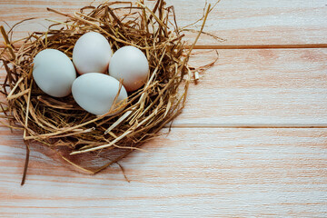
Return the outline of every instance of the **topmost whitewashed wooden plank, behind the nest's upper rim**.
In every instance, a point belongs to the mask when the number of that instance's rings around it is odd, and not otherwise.
[[[55,19],[57,15],[47,13],[50,6],[64,13],[73,13],[84,5],[97,5],[102,1],[44,1],[4,0],[0,2],[0,21],[9,25],[29,17],[40,17],[15,29],[15,38],[27,35],[27,31],[45,30],[49,23],[45,17]],[[214,4],[215,0],[208,1]],[[145,1],[153,5],[154,1]],[[174,5],[180,26],[189,25],[202,16],[205,1],[167,1]],[[185,10],[187,8],[187,10]],[[4,25],[3,22],[1,22]],[[194,29],[199,29],[195,25]],[[302,45],[326,44],[327,11],[325,1],[221,1],[208,19],[205,31],[226,39],[220,43],[211,36],[203,35],[199,45]],[[192,40],[195,33],[186,33]]]

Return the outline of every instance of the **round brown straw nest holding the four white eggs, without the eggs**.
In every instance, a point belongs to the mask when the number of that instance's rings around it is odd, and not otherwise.
[[[211,11],[204,11],[203,25]],[[153,138],[163,126],[181,114],[192,69],[188,60],[193,45],[186,46],[175,20],[173,6],[158,0],[153,9],[143,3],[104,3],[85,6],[74,15],[47,8],[66,17],[53,21],[45,32],[35,32],[15,46],[4,28],[5,49],[1,61],[5,66],[2,93],[6,102],[2,112],[10,128],[22,129],[27,148],[38,142],[52,148],[65,162],[85,173],[98,173]],[[95,116],[74,102],[72,95],[53,98],[44,94],[32,76],[33,59],[46,48],[53,48],[72,57],[74,44],[84,33],[104,35],[113,50],[124,45],[141,49],[149,61],[147,83],[129,93],[124,110],[114,116]],[[25,178],[25,176],[24,176]],[[24,183],[24,179],[23,179]]]

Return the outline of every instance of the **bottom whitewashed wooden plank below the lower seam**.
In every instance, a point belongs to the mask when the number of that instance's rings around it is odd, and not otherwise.
[[[0,129],[1,217],[326,217],[326,129],[175,129],[96,175]],[[205,140],[203,140],[205,139]],[[43,149],[45,152],[45,149]]]

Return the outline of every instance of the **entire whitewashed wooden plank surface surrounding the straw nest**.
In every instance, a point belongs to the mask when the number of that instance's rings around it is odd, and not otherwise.
[[[89,4],[0,0],[0,22],[39,17],[15,29],[20,38],[45,29],[45,17],[61,19],[46,7]],[[204,1],[171,4],[181,26],[203,13]],[[234,49],[218,49],[171,133],[121,162],[130,183],[117,165],[76,173],[32,147],[21,187],[25,145],[1,126],[0,217],[327,217],[327,2],[222,0],[205,31],[226,41],[203,36],[198,45]],[[194,65],[215,58],[193,54]]]

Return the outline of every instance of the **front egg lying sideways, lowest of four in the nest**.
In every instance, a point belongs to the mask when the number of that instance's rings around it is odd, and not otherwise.
[[[75,102],[85,111],[95,115],[103,115],[109,112],[118,91],[119,81],[110,75],[100,73],[89,73],[79,76],[74,81],[72,88]],[[126,100],[127,93],[122,85],[114,108],[124,104]],[[119,112],[114,114],[117,113]]]

